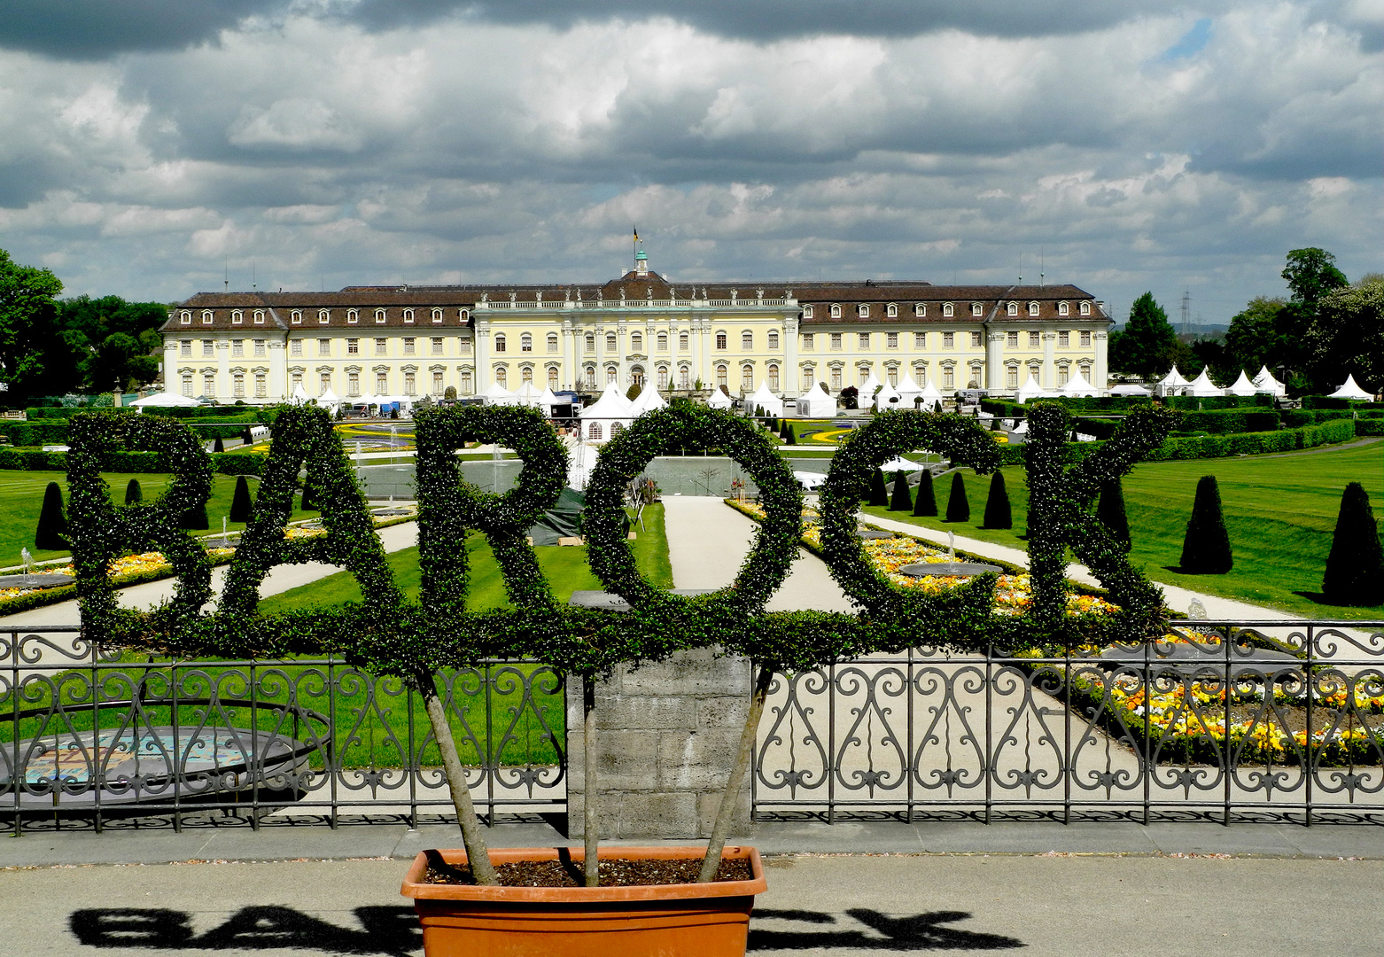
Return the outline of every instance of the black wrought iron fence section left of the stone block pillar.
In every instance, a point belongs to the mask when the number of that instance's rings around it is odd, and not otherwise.
[[[562,674],[489,662],[439,690],[477,809],[566,802]],[[339,658],[170,661],[69,626],[0,630],[0,817],[33,828],[453,816],[422,699]]]

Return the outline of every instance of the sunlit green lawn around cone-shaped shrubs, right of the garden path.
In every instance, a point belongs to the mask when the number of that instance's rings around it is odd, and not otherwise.
[[[1023,468],[1013,465],[1003,469],[1014,517],[1010,530],[978,528],[985,514],[990,476],[970,469],[963,474],[972,515],[967,524],[949,525],[940,518],[913,518],[886,508],[864,507],[862,511],[1024,548],[1026,543],[1019,537],[1028,519]],[[1197,479],[1203,475],[1215,475],[1221,488],[1221,504],[1235,550],[1235,568],[1226,575],[1181,575],[1172,571],[1182,553]],[[1384,618],[1384,605],[1344,608],[1312,598],[1322,587],[1341,492],[1348,482],[1365,486],[1377,521],[1384,514],[1384,443],[1283,456],[1136,465],[1124,481],[1133,540],[1131,558],[1149,578],[1193,591],[1316,618]],[[943,512],[949,489],[949,475],[936,483],[937,507]]]

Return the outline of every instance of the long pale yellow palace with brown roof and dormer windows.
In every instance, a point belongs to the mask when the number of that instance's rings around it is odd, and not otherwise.
[[[518,389],[660,391],[761,382],[783,396],[912,377],[943,392],[1013,393],[1032,373],[1106,388],[1103,303],[1074,285],[922,281],[670,283],[634,269],[603,285],[364,285],[339,292],[199,292],[163,325],[165,388],[275,403],[300,385],[465,397]]]

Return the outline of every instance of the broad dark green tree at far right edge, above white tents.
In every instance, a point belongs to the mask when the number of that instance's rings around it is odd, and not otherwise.
[[[1372,273],[1324,295],[1305,346],[1318,388],[1333,392],[1347,375],[1362,389],[1384,388],[1384,276]]]

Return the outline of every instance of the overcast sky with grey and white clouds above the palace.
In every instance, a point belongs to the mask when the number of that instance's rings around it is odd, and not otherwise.
[[[1384,0],[10,0],[0,248],[69,295],[1384,270]]]

